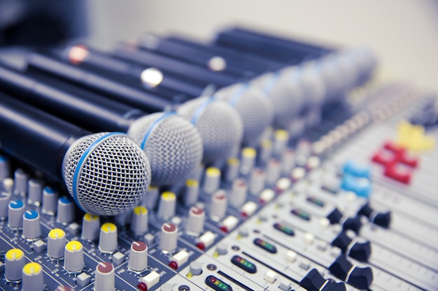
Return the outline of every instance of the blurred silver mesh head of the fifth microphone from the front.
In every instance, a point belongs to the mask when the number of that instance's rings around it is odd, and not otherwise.
[[[274,105],[274,124],[288,128],[290,121],[304,107],[304,95],[297,70],[288,68],[279,73],[270,73],[263,79],[260,78],[257,84],[268,94]]]

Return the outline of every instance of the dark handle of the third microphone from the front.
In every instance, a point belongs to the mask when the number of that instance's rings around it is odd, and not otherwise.
[[[160,112],[173,105],[171,101],[149,94],[143,89],[129,87],[108,77],[101,77],[96,73],[81,70],[43,54],[30,53],[27,57],[27,69],[51,73],[113,100],[129,103],[146,112]]]

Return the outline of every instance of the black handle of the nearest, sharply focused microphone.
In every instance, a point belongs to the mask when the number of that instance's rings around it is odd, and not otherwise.
[[[0,146],[10,156],[62,181],[62,161],[79,137],[90,133],[0,93]]]

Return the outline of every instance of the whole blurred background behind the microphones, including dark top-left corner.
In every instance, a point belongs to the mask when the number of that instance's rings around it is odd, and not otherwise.
[[[438,90],[436,0],[0,0],[3,47],[87,38],[110,49],[144,31],[208,41],[233,24],[334,47],[368,45],[382,78]]]

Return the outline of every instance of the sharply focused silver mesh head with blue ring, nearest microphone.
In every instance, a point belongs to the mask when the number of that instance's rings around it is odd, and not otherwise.
[[[150,184],[146,154],[123,133],[81,137],[66,152],[62,174],[79,207],[97,215],[134,207]]]

